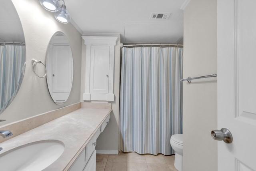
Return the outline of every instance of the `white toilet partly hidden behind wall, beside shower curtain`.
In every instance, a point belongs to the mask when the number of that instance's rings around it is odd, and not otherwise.
[[[175,160],[174,166],[178,171],[182,171],[182,162],[183,162],[183,135],[174,134],[170,140],[172,149],[175,151]]]

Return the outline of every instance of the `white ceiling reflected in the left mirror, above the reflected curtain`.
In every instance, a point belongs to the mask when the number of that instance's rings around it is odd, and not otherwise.
[[[18,13],[11,0],[0,0],[0,42],[25,42]]]

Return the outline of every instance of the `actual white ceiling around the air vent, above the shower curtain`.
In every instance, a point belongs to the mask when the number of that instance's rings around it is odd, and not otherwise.
[[[84,33],[120,33],[123,43],[183,43],[183,10],[188,0],[65,0]],[[168,20],[150,14],[172,13]]]

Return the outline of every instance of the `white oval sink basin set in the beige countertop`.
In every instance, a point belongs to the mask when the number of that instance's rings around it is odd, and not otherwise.
[[[64,151],[56,140],[28,143],[0,155],[1,171],[41,171],[56,161]]]

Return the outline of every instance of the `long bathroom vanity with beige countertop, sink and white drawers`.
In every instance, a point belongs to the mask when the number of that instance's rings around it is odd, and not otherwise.
[[[58,110],[56,113],[60,112]],[[8,168],[8,170],[32,168],[44,171],[95,171],[97,138],[110,121],[111,111],[110,103],[105,103],[102,106],[81,103],[80,109],[0,143],[0,147],[3,148],[0,151],[1,168]],[[27,124],[32,124],[29,119]],[[38,147],[41,145],[41,148],[37,147],[37,152],[33,154],[32,146],[35,145]],[[54,158],[52,153],[46,154],[50,153],[49,148],[52,150],[59,148],[59,156]],[[23,151],[21,152],[21,150]],[[18,155],[12,153],[18,153]],[[24,160],[23,163],[29,161],[29,164],[25,166],[23,164],[22,168],[18,166],[17,162],[20,160],[18,159],[20,156]],[[9,159],[10,157],[12,159]],[[33,163],[36,164],[31,166]],[[16,164],[17,166],[15,166]]]

